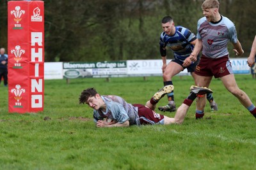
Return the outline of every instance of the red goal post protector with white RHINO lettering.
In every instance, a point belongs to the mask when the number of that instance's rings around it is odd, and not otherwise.
[[[44,1],[8,1],[8,109],[44,110]]]

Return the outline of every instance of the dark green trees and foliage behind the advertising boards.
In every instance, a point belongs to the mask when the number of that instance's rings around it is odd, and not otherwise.
[[[1,0],[0,0],[1,1]],[[196,33],[202,0],[44,1],[45,61],[159,59],[161,18]],[[3,5],[2,5],[3,4]],[[256,1],[220,1],[220,13],[236,24],[248,57],[256,34]],[[0,46],[7,47],[7,1],[0,6]],[[232,45],[228,45],[231,56]],[[168,56],[172,57],[170,52]],[[236,57],[236,56],[234,56]]]

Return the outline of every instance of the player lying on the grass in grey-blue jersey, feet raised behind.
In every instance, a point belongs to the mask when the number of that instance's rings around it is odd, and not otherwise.
[[[95,89],[88,88],[81,92],[80,104],[88,104],[93,108],[93,118],[97,127],[127,127],[129,125],[154,125],[154,124],[180,124],[183,122],[189,106],[198,94],[212,93],[210,89],[191,87],[191,92],[184,103],[178,108],[174,118],[156,113],[154,110],[158,101],[174,89],[173,85],[166,85],[154,96],[143,104],[127,103],[119,96],[101,96]]]

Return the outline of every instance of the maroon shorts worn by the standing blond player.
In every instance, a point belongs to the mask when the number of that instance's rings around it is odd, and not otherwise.
[[[219,78],[228,74],[233,74],[231,62],[228,55],[217,59],[211,59],[202,55],[199,64],[196,66],[195,73],[199,76],[214,76]]]

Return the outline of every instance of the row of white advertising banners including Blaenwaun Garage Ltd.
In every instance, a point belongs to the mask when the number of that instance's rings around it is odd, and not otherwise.
[[[171,60],[167,60],[170,62]],[[230,59],[234,74],[250,74],[247,58]],[[45,62],[44,79],[162,76],[162,60],[120,62]],[[178,76],[190,75],[187,69]]]

